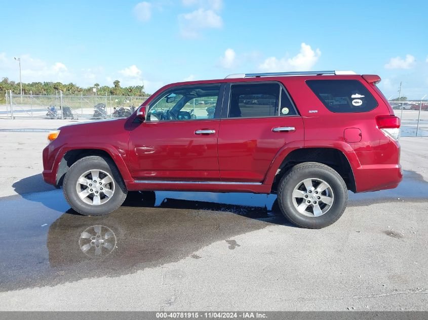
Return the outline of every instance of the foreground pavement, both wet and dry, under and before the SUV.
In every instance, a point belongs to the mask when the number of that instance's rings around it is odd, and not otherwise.
[[[0,198],[0,310],[427,310],[428,182],[349,193],[322,230],[275,195],[130,195],[76,214],[61,190]]]

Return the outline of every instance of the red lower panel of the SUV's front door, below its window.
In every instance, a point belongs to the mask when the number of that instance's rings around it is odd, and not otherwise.
[[[136,180],[219,181],[220,120],[133,123],[129,167]],[[215,134],[195,134],[211,129]]]

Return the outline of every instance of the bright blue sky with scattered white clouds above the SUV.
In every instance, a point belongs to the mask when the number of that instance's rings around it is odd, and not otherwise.
[[[386,98],[428,95],[427,1],[0,0],[0,78],[144,84],[231,73],[378,74]],[[428,96],[427,96],[428,97]],[[425,97],[426,99],[426,97]]]

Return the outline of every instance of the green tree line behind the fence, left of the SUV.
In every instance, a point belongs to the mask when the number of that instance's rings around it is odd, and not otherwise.
[[[121,87],[121,82],[119,80],[113,81],[113,86],[100,85],[99,83],[94,83],[93,86],[81,87],[72,82],[64,84],[62,82],[31,82],[31,83],[22,83],[22,94],[29,95],[32,94],[45,94],[52,95],[56,94],[62,90],[63,94],[80,94],[83,95],[95,95],[93,88],[97,88],[97,95],[112,95],[112,96],[134,96],[134,97],[148,97],[149,94],[144,92],[144,85],[132,85],[127,87]],[[0,82],[0,101],[5,101],[5,94],[12,90],[14,94],[20,94],[21,88],[19,82],[11,81],[8,78],[2,78]]]

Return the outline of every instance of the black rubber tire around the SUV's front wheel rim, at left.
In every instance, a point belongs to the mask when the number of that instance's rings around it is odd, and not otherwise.
[[[105,203],[100,205],[87,204],[77,195],[77,180],[88,170],[103,170],[112,177],[115,186],[114,192]],[[118,209],[125,201],[127,192],[125,182],[114,162],[98,156],[84,157],[76,161],[65,174],[63,182],[65,200],[74,211],[83,215],[105,215]]]

